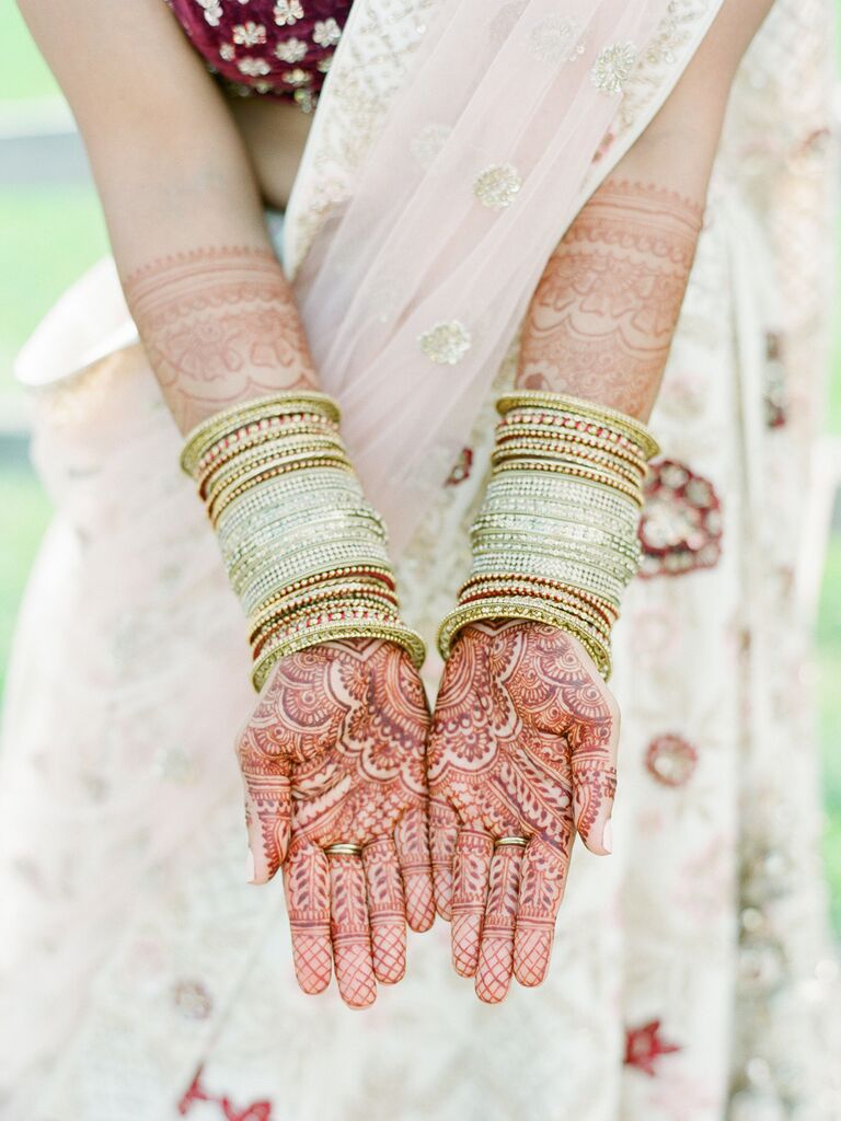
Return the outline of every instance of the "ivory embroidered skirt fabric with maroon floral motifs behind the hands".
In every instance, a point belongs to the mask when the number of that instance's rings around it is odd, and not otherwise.
[[[713,8],[668,6],[588,185]],[[360,100],[379,71],[354,84],[351,66],[344,85],[342,57],[379,35],[400,44],[380,58],[394,76],[416,9],[354,4],[286,228],[292,271],[352,197],[382,119]],[[177,432],[130,325],[101,323],[107,266],[47,321],[26,380],[80,354],[85,368],[35,397],[56,517],[3,729],[2,1121],[841,1115],[798,548],[831,271],[828,27],[823,0],[780,0],[738,80],[653,418],[650,564],[617,633],[616,854],[575,851],[551,976],[500,1008],[451,972],[444,924],[410,939],[407,979],[370,1012],[296,990],[280,887],[243,882],[231,744],[248,650]],[[406,618],[427,636],[469,567],[508,343],[403,550]]]

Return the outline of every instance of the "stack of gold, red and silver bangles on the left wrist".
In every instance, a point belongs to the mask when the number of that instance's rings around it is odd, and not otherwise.
[[[280,658],[335,639],[388,639],[424,660],[339,420],[324,393],[277,393],[219,413],[184,445],[248,617],[258,691]]]

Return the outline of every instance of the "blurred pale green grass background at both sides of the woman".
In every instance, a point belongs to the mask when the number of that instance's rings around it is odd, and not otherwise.
[[[839,3],[841,7],[841,0]],[[57,93],[17,7],[6,3],[0,8],[0,109],[13,113],[16,104],[27,99]],[[12,399],[19,401],[10,369],[18,346],[66,285],[102,256],[105,244],[104,224],[90,189],[37,185],[26,189],[0,188],[0,269],[4,278],[12,280],[12,298],[0,300],[0,410]],[[839,262],[841,266],[841,249]],[[834,348],[828,429],[841,435],[841,332]],[[25,456],[0,461],[0,484],[1,695],[17,606],[49,518],[49,503]],[[826,805],[824,847],[833,921],[841,935],[841,534],[838,532],[826,557],[815,638]]]

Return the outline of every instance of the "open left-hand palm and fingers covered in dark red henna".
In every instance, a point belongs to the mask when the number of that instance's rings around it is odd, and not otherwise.
[[[390,642],[326,642],[284,658],[238,744],[253,882],[283,865],[295,973],[363,1008],[406,967],[406,921],[435,917],[420,678]],[[335,844],[362,855],[327,854]]]

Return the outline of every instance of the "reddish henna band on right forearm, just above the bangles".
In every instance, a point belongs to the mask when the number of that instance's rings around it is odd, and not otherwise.
[[[549,258],[529,305],[517,385],[646,418],[703,222],[700,204],[608,179]]]

